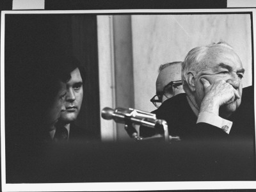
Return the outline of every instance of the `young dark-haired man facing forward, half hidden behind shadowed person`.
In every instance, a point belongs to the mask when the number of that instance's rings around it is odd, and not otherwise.
[[[64,108],[56,124],[56,131],[53,131],[51,136],[56,141],[88,141],[92,138],[92,134],[75,124],[83,102],[85,70],[74,57],[69,58],[65,67],[71,78],[66,83],[67,95],[65,95]]]

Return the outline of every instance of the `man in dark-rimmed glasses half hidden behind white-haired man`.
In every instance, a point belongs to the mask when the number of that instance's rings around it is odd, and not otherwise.
[[[179,93],[184,93],[181,79],[181,61],[165,63],[159,66],[159,74],[156,80],[156,95],[150,99],[150,102],[159,108],[161,104]],[[152,113],[154,113],[153,111]],[[140,136],[149,137],[155,132],[147,127],[140,127]]]

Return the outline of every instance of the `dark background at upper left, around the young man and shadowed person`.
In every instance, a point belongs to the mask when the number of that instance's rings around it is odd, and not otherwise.
[[[76,123],[100,138],[96,15],[6,14],[5,28],[6,129],[19,124],[20,108],[26,100],[23,96],[29,97],[29,93],[22,93],[26,86],[22,79],[33,63],[21,61],[37,61],[36,56],[43,51],[65,52],[86,68],[84,98]]]

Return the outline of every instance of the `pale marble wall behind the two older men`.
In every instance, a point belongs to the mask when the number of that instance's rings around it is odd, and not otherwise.
[[[243,85],[252,84],[252,42],[249,14],[132,15],[132,50],[135,108],[156,109],[155,94],[160,64],[182,61],[200,45],[225,41],[234,47],[246,70]]]

